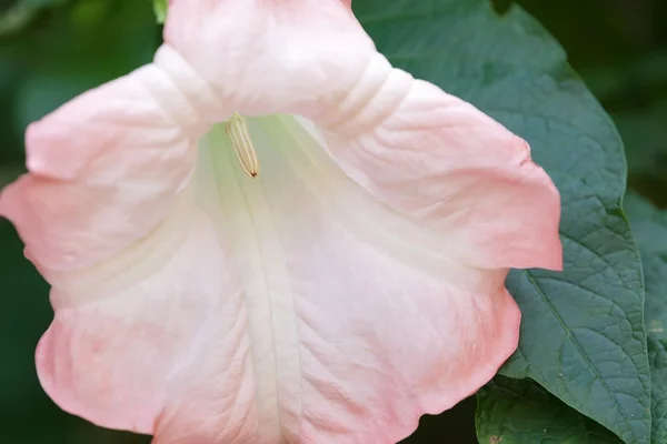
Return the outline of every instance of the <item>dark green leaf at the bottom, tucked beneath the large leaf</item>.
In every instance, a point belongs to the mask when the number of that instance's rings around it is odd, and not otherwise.
[[[477,437],[482,444],[623,443],[529,380],[497,376],[477,400]]]

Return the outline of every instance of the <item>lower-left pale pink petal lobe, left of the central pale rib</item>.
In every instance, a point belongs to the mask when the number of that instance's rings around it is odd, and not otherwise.
[[[175,443],[253,433],[243,294],[218,233],[183,200],[141,244],[53,286],[37,352],[53,401],[104,427],[152,434],[177,422]]]

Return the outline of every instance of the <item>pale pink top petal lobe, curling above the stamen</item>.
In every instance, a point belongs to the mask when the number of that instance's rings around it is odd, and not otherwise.
[[[165,42],[235,111],[311,120],[339,117],[380,57],[341,0],[175,0]]]

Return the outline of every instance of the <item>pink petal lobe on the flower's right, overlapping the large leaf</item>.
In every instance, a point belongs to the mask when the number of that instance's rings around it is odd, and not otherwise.
[[[558,190],[524,140],[471,104],[416,80],[372,130],[323,137],[376,199],[450,239],[452,259],[489,269],[563,266]]]

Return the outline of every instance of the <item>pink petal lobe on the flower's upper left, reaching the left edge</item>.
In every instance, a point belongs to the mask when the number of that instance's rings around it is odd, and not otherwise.
[[[0,215],[43,273],[110,258],[165,218],[209,128],[198,109],[151,64],[29,127],[30,174],[0,194]]]

